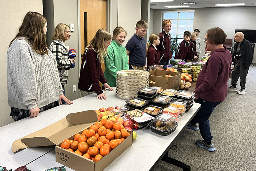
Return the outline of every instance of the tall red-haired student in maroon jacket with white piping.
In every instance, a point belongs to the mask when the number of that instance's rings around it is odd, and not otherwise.
[[[162,32],[159,34],[160,44],[157,46],[160,53],[161,65],[166,66],[169,64],[171,57],[171,35],[169,31],[172,28],[172,22],[170,20],[164,20],[162,24]]]

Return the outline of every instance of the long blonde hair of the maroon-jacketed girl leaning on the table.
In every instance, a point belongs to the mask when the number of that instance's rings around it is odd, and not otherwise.
[[[104,42],[111,39],[112,39],[111,34],[105,29],[101,28],[96,32],[94,38],[91,40],[91,42],[88,44],[88,46],[85,49],[88,49],[89,47],[93,48],[93,50],[99,56],[99,61],[102,62],[104,61],[103,57],[107,57],[107,54],[108,54],[108,49],[104,48]]]

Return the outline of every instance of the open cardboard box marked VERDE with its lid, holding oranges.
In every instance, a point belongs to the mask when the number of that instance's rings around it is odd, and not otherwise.
[[[27,147],[39,147],[47,145],[56,145],[56,161],[70,167],[74,170],[104,170],[112,163],[121,153],[132,145],[132,131],[120,145],[114,148],[108,155],[104,156],[98,162],[89,160],[67,149],[61,148],[61,143],[65,139],[74,139],[76,133],[82,133],[84,129],[98,121],[97,114],[94,110],[84,112],[70,113],[65,118],[49,125],[37,132],[31,133],[12,143],[12,152],[19,151]]]

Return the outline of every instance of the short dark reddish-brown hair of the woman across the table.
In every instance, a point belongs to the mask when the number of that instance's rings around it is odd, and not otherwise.
[[[223,44],[227,38],[225,32],[219,27],[210,28],[206,31],[206,34],[207,40],[211,44]]]

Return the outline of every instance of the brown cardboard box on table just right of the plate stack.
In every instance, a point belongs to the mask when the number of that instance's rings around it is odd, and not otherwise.
[[[172,71],[167,70],[151,70],[148,71],[149,75],[149,82],[154,81],[155,84],[149,83],[149,86],[158,86],[162,87],[163,90],[166,89],[177,89],[180,85],[181,73],[175,73]],[[165,77],[165,75],[172,75],[172,77]]]

